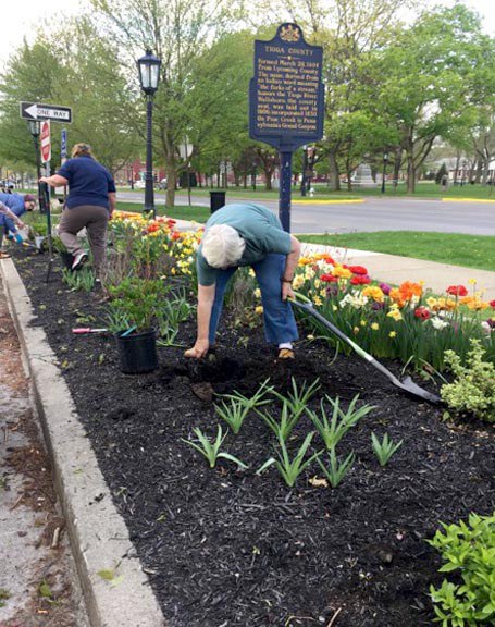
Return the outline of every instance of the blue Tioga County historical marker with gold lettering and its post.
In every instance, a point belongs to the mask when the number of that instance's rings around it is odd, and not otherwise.
[[[306,44],[297,24],[282,24],[270,41],[255,41],[249,135],[280,151],[279,216],[288,232],[293,152],[323,136],[322,65],[323,49]]]

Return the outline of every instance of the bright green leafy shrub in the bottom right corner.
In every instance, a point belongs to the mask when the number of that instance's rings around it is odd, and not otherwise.
[[[441,573],[456,571],[462,580],[444,579],[430,588],[437,623],[442,627],[481,627],[495,624],[495,515],[471,514],[469,526],[442,524],[429,544],[445,562]]]

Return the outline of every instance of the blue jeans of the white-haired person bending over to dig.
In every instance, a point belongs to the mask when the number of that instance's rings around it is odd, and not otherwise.
[[[281,279],[285,269],[285,259],[284,255],[272,254],[267,255],[264,259],[251,266],[261,291],[264,335],[267,342],[274,344],[293,342],[299,336],[293,308],[289,303],[282,300]],[[226,268],[225,270],[219,270],[216,275],[215,295],[210,318],[210,344],[214,344],[225,290],[228,280],[236,270],[237,267]]]

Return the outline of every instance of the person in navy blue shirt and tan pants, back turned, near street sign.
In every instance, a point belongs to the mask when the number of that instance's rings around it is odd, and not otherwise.
[[[77,233],[86,228],[96,273],[99,274],[107,246],[107,225],[115,209],[115,183],[110,172],[98,163],[88,144],[76,144],[72,159],[52,176],[41,176],[40,183],[51,187],[69,185],[65,209],[59,224],[59,235],[74,257],[73,270],[88,259]]]

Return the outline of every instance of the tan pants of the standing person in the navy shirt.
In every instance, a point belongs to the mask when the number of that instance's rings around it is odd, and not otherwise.
[[[94,205],[81,205],[81,207],[73,209],[64,209],[60,219],[59,235],[62,244],[72,255],[84,253],[81,239],[76,235],[86,226],[97,272],[101,269],[106,258],[108,221],[108,210],[104,207]]]

